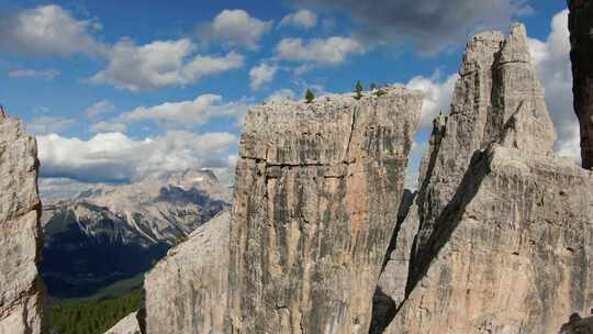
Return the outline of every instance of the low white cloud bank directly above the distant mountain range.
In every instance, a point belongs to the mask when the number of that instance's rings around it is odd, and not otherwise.
[[[144,140],[122,133],[100,133],[88,141],[48,134],[37,136],[37,143],[43,177],[125,182],[187,168],[226,169],[237,138],[224,132],[172,131]]]

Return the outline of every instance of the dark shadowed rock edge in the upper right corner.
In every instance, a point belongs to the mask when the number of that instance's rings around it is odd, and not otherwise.
[[[569,0],[574,111],[581,124],[583,168],[593,168],[593,1]]]

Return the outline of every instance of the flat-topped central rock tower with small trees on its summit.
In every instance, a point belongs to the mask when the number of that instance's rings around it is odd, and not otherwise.
[[[251,110],[231,225],[234,333],[368,333],[422,97]]]

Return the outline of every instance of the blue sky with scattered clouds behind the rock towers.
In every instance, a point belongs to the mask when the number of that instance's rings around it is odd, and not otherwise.
[[[468,37],[521,21],[557,151],[577,157],[564,10],[557,0],[0,0],[0,103],[37,135],[45,179],[204,167],[230,182],[248,105],[307,87],[347,92],[357,79],[401,82],[427,94],[413,179]]]

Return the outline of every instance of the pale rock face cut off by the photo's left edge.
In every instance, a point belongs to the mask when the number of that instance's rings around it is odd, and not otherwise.
[[[45,333],[37,145],[0,108],[0,333]]]

